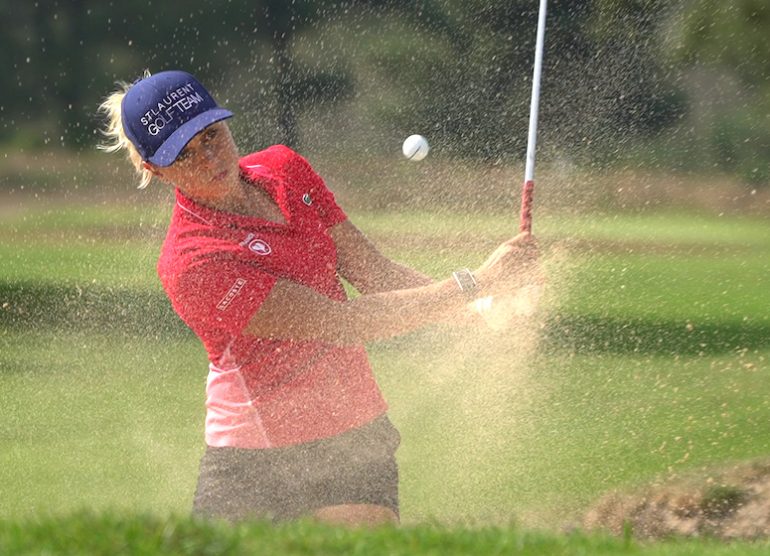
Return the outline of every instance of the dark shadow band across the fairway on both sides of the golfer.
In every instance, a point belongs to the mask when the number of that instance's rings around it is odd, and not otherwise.
[[[0,328],[69,328],[158,338],[191,335],[162,291],[0,283]],[[688,325],[562,314],[543,348],[575,353],[699,355],[770,346],[770,319]]]

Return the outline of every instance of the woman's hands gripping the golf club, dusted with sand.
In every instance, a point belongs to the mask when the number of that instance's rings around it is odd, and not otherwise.
[[[542,283],[537,241],[529,232],[509,239],[473,273],[484,295],[511,293],[528,284]]]

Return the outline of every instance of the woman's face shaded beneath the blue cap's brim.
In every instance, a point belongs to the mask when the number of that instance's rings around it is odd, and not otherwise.
[[[216,122],[193,137],[171,166],[153,167],[153,172],[183,191],[205,196],[238,177],[238,160],[230,128]]]

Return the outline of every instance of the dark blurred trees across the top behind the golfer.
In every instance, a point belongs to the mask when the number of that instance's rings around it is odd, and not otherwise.
[[[0,2],[0,144],[93,147],[95,112],[144,69],[201,78],[244,149],[441,152],[519,161],[538,2]],[[553,0],[541,158],[639,163],[767,184],[763,0]],[[13,187],[4,164],[2,184]]]

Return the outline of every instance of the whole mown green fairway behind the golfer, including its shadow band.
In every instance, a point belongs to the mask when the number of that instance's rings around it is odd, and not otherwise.
[[[206,361],[155,278],[165,218],[63,206],[0,224],[0,518],[188,510]],[[511,228],[502,215],[353,218],[436,277],[480,263]],[[611,488],[767,456],[770,224],[551,215],[537,233],[551,276],[537,319],[370,347],[402,431],[406,524],[558,528]],[[624,553],[613,542],[606,553]],[[690,548],[651,553],[706,553]]]

